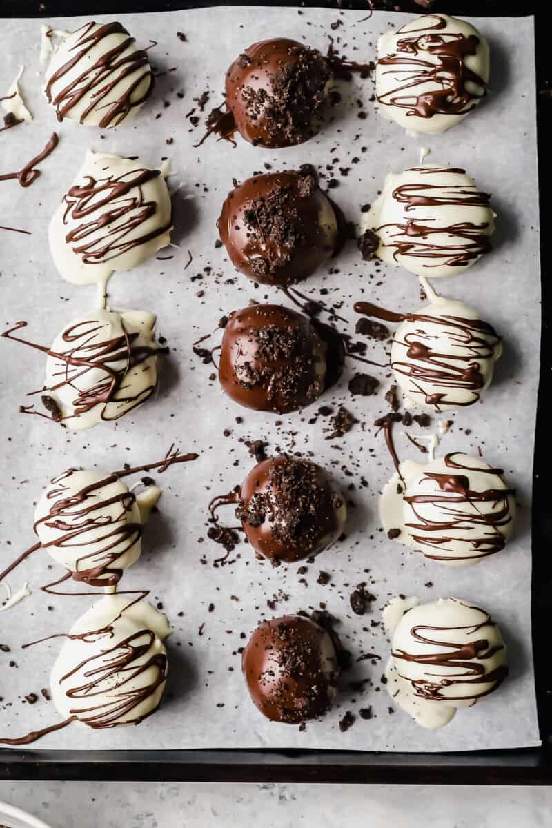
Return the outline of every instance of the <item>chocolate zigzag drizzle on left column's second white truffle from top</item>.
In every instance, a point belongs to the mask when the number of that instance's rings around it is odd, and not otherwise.
[[[109,262],[170,230],[172,221],[142,235],[132,235],[156,213],[156,202],[146,201],[142,185],[160,175],[159,170],[137,168],[98,181],[84,176],[81,184],[70,187],[64,196],[63,223],[68,224],[70,219],[74,227],[65,235],[65,241],[84,264]]]

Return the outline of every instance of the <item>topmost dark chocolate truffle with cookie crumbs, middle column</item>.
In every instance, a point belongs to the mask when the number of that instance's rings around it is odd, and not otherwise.
[[[293,147],[317,128],[329,63],[285,37],[249,46],[226,73],[226,103],[240,135],[260,147]]]

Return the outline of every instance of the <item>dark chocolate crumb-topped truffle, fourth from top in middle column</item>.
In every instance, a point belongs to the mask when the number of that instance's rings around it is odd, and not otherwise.
[[[247,474],[237,515],[260,555],[290,563],[332,546],[343,532],[347,507],[325,469],[281,455],[262,460]]]

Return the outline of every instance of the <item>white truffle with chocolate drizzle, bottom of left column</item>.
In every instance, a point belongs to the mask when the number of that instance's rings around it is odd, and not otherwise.
[[[55,707],[89,727],[138,724],[161,701],[165,615],[132,596],[105,595],[71,628],[50,676]]]

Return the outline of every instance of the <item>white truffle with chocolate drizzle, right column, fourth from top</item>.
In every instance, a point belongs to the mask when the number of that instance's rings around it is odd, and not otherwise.
[[[460,452],[426,465],[406,461],[380,500],[386,532],[450,566],[466,566],[502,551],[516,517],[514,490],[502,469]],[[399,490],[397,490],[399,489]]]

